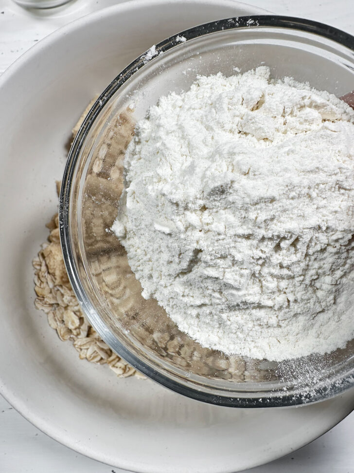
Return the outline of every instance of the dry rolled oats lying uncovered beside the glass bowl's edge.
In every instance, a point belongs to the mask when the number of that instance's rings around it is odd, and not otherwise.
[[[93,101],[72,130],[73,136],[78,131],[92,103]],[[97,183],[92,182],[92,185],[95,184]],[[60,185],[61,183],[57,181],[58,195]],[[114,353],[87,321],[71,288],[64,265],[57,213],[53,215],[47,227],[50,230],[48,241],[43,243],[38,255],[33,260],[35,293],[37,295],[35,307],[47,314],[48,323],[56,330],[60,340],[70,340],[73,343],[80,359],[87,359],[96,364],[106,364],[120,378],[129,376],[145,378]],[[107,277],[106,284],[114,284],[111,277]]]

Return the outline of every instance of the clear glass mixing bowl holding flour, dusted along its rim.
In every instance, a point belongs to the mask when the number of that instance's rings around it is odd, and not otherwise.
[[[270,362],[226,356],[181,333],[155,300],[143,299],[124,247],[109,230],[123,189],[124,150],[134,124],[159,96],[197,75],[266,64],[337,96],[354,89],[354,38],[309,20],[231,18],[152,47],[96,100],[69,154],[60,232],[72,287],[89,322],[135,368],[188,397],[233,407],[313,402],[354,385],[354,341],[325,356]]]

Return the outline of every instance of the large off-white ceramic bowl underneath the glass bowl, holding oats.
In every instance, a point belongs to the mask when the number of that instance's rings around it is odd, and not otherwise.
[[[89,100],[152,44],[212,19],[259,10],[230,0],[131,1],[41,41],[0,79],[0,390],[43,432],[134,472],[235,472],[335,425],[353,392],[317,405],[242,410],[117,379],[80,361],[35,310],[31,260],[57,208],[65,143]]]

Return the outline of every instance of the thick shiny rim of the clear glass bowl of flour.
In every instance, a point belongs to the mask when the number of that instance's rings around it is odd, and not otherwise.
[[[194,38],[199,38],[226,30],[260,27],[284,28],[312,33],[319,37],[330,39],[354,52],[354,37],[333,26],[309,19],[276,15],[256,15],[216,20],[182,31],[157,44],[156,55],[181,45],[180,37],[184,37],[186,38],[186,41],[189,41]],[[315,386],[311,390],[311,395],[305,392],[303,394],[300,393],[299,395],[294,396],[294,392],[287,394],[283,391],[269,391],[269,396],[264,396],[262,399],[257,396],[257,393],[254,393],[255,395],[253,393],[249,393],[249,397],[215,396],[215,394],[203,392],[186,384],[182,384],[157,370],[152,370],[149,365],[139,359],[134,353],[128,350],[124,344],[118,341],[107,327],[103,326],[103,322],[96,308],[90,303],[89,298],[85,294],[85,289],[81,284],[76,262],[71,249],[71,188],[76,164],[80,157],[80,152],[84,147],[85,139],[93,123],[95,122],[96,117],[101,113],[110,98],[120,89],[120,87],[122,87],[129,77],[131,77],[144,65],[156,57],[156,55],[154,55],[151,58],[147,58],[146,55],[147,52],[144,52],[141,56],[130,63],[118,76],[112,80],[112,82],[106,87],[105,91],[97,98],[89,113],[85,117],[74,141],[72,142],[63,174],[59,197],[60,242],[64,256],[64,263],[69,275],[71,286],[89,322],[103,338],[103,340],[106,341],[106,343],[112,348],[112,350],[118,353],[119,356],[122,356],[122,358],[124,358],[138,371],[158,382],[159,384],[171,389],[172,391],[211,404],[242,408],[295,406],[308,402],[317,402],[329,397],[333,397],[337,394],[340,394],[344,390],[353,387],[354,366],[352,366],[351,369],[348,370],[344,375],[334,377],[330,383],[327,383],[326,385],[320,384]]]

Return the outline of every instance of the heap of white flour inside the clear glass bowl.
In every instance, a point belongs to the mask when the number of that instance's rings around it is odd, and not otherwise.
[[[136,127],[113,230],[143,296],[227,354],[354,336],[354,111],[267,67],[199,77]],[[354,279],[354,278],[353,278]]]

